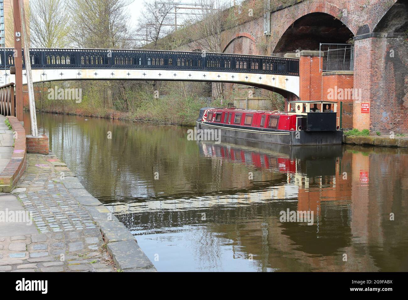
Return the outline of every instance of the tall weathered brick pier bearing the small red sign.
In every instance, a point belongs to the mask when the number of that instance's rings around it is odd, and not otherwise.
[[[389,134],[408,131],[408,53],[404,38],[371,37],[355,41],[354,86],[362,91],[355,100],[353,122],[358,129]],[[361,113],[370,103],[370,113]]]

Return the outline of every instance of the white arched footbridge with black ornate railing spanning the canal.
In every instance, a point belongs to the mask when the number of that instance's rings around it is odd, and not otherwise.
[[[0,85],[14,49],[0,51]],[[177,80],[231,82],[299,97],[299,59],[230,53],[120,49],[30,49],[33,82],[56,80]],[[24,55],[23,55],[24,58]],[[23,61],[24,69],[24,61]],[[24,76],[23,84],[27,84]]]

